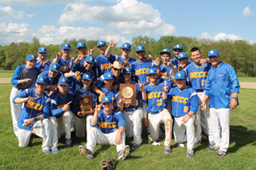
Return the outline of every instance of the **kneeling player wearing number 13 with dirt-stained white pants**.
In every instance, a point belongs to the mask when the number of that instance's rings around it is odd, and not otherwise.
[[[165,153],[171,153],[171,130],[173,119],[166,109],[167,103],[162,100],[162,86],[165,83],[158,83],[156,69],[149,69],[147,75],[150,78],[150,84],[145,86],[139,82],[139,88],[142,92],[142,99],[147,103],[148,120],[144,117],[145,126],[150,126],[150,135],[154,141],[159,137],[160,122],[165,122]]]

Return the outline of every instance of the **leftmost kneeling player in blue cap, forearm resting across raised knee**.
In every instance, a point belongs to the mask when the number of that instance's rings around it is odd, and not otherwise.
[[[46,86],[46,77],[39,76],[35,82],[35,89],[24,90],[14,97],[12,102],[25,102],[18,117],[18,146],[28,146],[32,130],[42,129],[42,150],[44,154],[50,154],[51,131],[47,118],[50,114],[51,99],[44,92]]]

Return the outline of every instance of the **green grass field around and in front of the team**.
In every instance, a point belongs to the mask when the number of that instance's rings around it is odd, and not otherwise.
[[[100,169],[103,158],[117,158],[115,146],[96,146],[94,159],[89,160],[79,154],[79,146],[86,139],[78,139],[72,134],[72,148],[65,148],[65,141],[59,141],[59,153],[45,155],[42,139],[33,138],[27,148],[18,147],[12,130],[10,114],[11,84],[0,84],[0,169]],[[143,129],[143,145],[130,153],[124,161],[118,161],[116,169],[256,169],[256,126],[255,92],[241,89],[240,105],[231,112],[231,134],[228,154],[216,158],[218,152],[208,152],[208,141],[195,146],[195,156],[186,158],[186,148],[177,148],[172,140],[171,154],[164,153],[162,146],[152,146],[147,141]],[[132,139],[126,144],[132,146]]]

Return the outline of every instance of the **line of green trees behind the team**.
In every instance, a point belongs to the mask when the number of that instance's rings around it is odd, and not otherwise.
[[[71,46],[70,56],[74,54],[78,55],[79,52],[76,50],[76,44],[79,41],[85,41],[87,48],[96,48],[98,40],[86,40],[86,39],[65,39],[63,43],[69,43]],[[115,39],[114,39],[115,41]],[[119,42],[119,46],[122,46]],[[106,42],[109,44],[109,42]],[[230,40],[225,41],[214,41],[212,39],[197,39],[195,37],[175,37],[175,36],[162,36],[160,39],[156,40],[147,36],[137,36],[133,37],[131,41],[132,52],[130,57],[137,58],[135,54],[135,48],[138,45],[143,45],[145,47],[146,55],[152,54],[154,56],[159,56],[159,53],[164,48],[169,48],[171,52],[176,44],[181,44],[183,46],[184,52],[190,56],[190,50],[194,47],[198,47],[203,53],[203,58],[207,58],[208,51],[211,49],[218,50],[221,61],[232,65],[236,72],[249,76],[256,76],[256,44],[250,44],[246,40]],[[25,64],[25,59],[28,54],[35,54],[37,56],[38,48],[44,46],[47,50],[47,59],[52,61],[55,58],[55,51],[61,51],[62,44],[50,44],[48,46],[41,44],[39,39],[33,37],[31,43],[20,42],[12,43],[9,46],[0,46],[0,67],[1,69],[15,69],[18,65]],[[94,51],[94,56],[98,56],[100,52],[98,50]],[[111,50],[111,54],[121,55],[122,52],[119,47],[115,47]],[[171,54],[172,58],[174,54]]]

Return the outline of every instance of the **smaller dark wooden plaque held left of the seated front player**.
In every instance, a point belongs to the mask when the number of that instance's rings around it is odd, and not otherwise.
[[[79,103],[81,114],[94,114],[94,102],[92,101],[92,95],[79,96]]]

